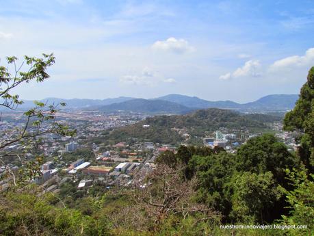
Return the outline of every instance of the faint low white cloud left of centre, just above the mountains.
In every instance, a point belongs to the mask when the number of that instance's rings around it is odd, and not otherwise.
[[[140,75],[125,75],[120,78],[120,83],[141,86],[156,86],[158,83],[175,83],[172,78],[165,79],[162,75],[153,72],[149,68],[144,68]]]

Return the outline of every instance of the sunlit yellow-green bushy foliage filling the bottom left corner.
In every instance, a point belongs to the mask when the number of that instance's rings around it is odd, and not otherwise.
[[[77,210],[54,207],[51,194],[12,193],[1,198],[1,235],[109,235],[105,218],[91,218]]]

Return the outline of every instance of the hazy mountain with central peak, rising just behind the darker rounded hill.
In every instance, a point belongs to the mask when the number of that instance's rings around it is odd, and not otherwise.
[[[179,103],[186,107],[197,107],[200,109],[218,107],[218,108],[237,108],[238,103],[233,101],[206,101],[199,99],[197,96],[185,96],[181,94],[168,94],[166,96],[160,96],[157,99],[170,101],[172,103]]]

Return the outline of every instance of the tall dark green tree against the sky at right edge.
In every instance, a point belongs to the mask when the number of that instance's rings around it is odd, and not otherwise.
[[[298,131],[298,155],[306,168],[314,172],[314,66],[301,88],[296,106],[285,115],[284,129]]]

